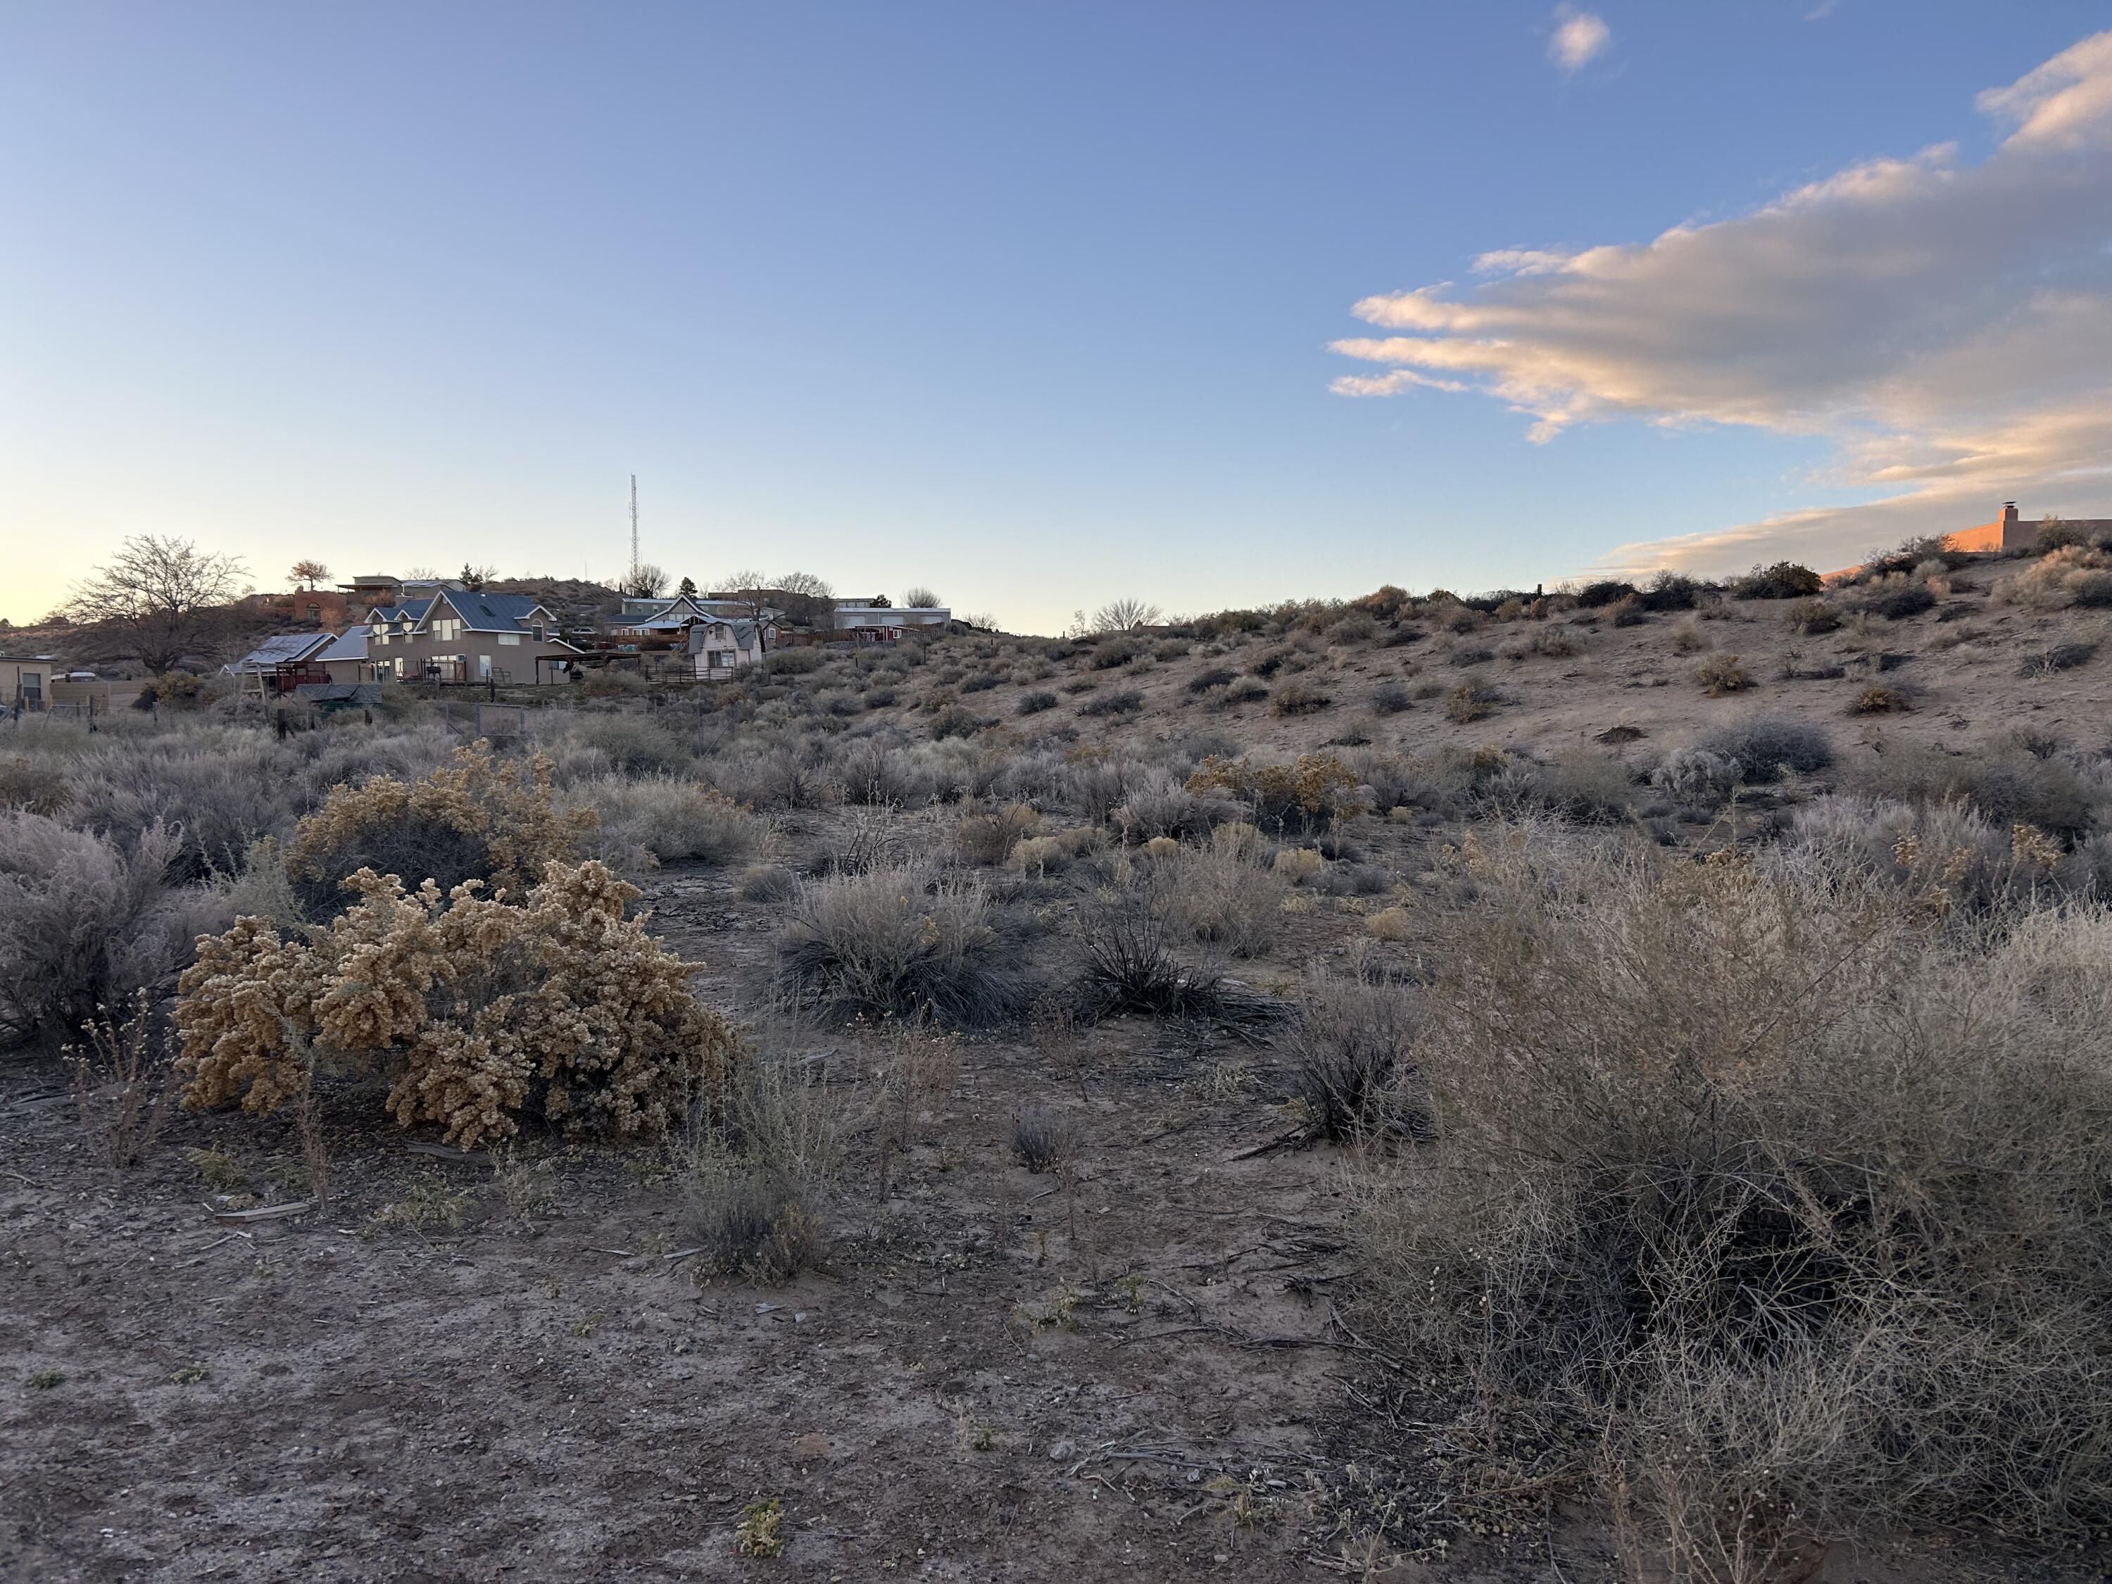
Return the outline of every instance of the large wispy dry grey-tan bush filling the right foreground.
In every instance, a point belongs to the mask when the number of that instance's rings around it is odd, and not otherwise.
[[[1360,1187],[1413,1375],[1531,1478],[1597,1481],[1668,1578],[2101,1531],[2112,914],[1504,836],[1457,862],[1436,1138]]]

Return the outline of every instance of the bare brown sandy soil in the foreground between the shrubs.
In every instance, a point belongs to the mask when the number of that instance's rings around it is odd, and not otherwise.
[[[720,988],[760,961],[727,887],[661,891]],[[815,1048],[866,1081],[860,1039]],[[1299,1576],[1347,1409],[1328,1375],[1371,1366],[1331,1326],[1331,1162],[1240,1159],[1282,1117],[1238,1037],[1117,1022],[1081,1058],[1079,1090],[965,1043],[887,1200],[868,1153],[830,1269],[784,1288],[667,1259],[684,1202],[655,1151],[528,1140],[498,1174],[408,1153],[340,1090],[327,1208],[230,1225],[215,1206],[304,1193],[283,1124],[177,1117],[114,1172],[53,1067],[0,1069],[0,1567],[733,1578],[773,1567],[735,1527],[777,1497],[796,1578]],[[1012,1159],[1020,1105],[1079,1119],[1075,1187]],[[241,1181],[215,1193],[196,1151]],[[458,1227],[382,1219],[450,1200]]]

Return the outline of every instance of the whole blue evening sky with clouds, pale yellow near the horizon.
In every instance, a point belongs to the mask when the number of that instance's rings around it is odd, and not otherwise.
[[[0,617],[129,534],[1056,631],[2112,515],[2112,6],[0,2]]]

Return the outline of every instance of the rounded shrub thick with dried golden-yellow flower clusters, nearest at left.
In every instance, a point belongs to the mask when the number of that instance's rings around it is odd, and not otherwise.
[[[689,967],[625,919],[640,893],[604,864],[551,864],[524,906],[361,870],[359,902],[287,938],[239,919],[199,942],[177,988],[184,1107],[268,1113],[310,1071],[382,1071],[389,1113],[452,1145],[568,1128],[661,1134],[733,1054]]]

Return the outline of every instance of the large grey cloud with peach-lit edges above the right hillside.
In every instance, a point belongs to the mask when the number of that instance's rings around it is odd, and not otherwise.
[[[1833,458],[1814,484],[1884,496],[1616,558],[1827,560],[2002,498],[2108,515],[2112,32],[1977,103],[2002,129],[1977,165],[1941,144],[1645,243],[1483,253],[1468,291],[1364,298],[1356,317],[1390,334],[1335,351],[1390,372],[1335,389],[1466,386],[1540,444],[1622,418],[1816,435]]]

